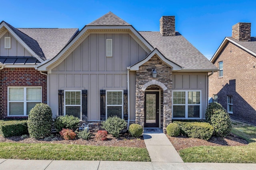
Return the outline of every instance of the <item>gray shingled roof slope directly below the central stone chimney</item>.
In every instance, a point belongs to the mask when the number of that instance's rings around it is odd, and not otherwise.
[[[176,32],[176,36],[162,36],[160,32],[156,31],[139,31],[139,33],[167,59],[184,69],[218,69],[178,32]]]

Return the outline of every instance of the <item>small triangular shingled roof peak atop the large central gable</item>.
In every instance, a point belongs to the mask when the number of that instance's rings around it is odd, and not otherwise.
[[[97,20],[87,24],[87,25],[131,25],[126,21],[122,20],[112,12],[108,12],[104,16],[98,18]]]

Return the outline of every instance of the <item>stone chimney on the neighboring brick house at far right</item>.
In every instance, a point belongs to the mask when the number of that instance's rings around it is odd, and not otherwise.
[[[251,41],[251,23],[238,22],[233,25],[232,38],[238,41]]]

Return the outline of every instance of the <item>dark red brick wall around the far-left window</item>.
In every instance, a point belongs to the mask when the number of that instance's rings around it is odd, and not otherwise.
[[[0,70],[0,119],[27,118],[7,116],[9,86],[42,86],[42,102],[47,103],[47,77],[34,68],[4,68]]]

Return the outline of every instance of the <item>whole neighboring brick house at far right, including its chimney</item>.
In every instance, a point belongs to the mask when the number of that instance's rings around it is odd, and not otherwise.
[[[256,123],[256,37],[251,23],[237,23],[211,59],[219,68],[209,77],[209,97],[233,119]]]

